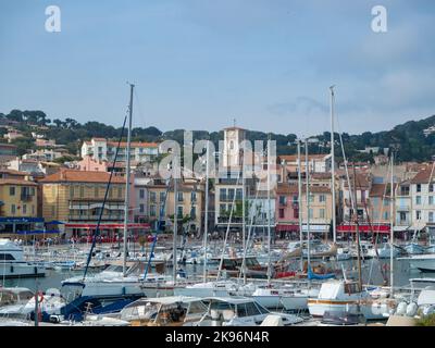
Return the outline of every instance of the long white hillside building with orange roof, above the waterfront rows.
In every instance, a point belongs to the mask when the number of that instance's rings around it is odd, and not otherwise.
[[[113,161],[116,153],[117,141],[103,138],[92,138],[82,145],[82,158],[89,156],[99,161]],[[117,161],[126,161],[127,142],[121,142]],[[132,142],[130,160],[137,163],[152,161],[159,156],[159,145],[156,142]]]

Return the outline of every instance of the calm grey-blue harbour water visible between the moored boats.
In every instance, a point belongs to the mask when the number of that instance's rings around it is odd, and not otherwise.
[[[341,263],[346,270],[357,269],[357,261],[349,260],[338,262],[338,266],[341,268]],[[380,268],[384,268],[384,272],[389,279],[389,260],[365,260],[362,262],[362,276],[363,281],[366,283],[369,281],[370,274],[371,284],[382,285],[383,284],[383,275]],[[192,276],[195,274],[202,274],[202,265],[186,265],[185,270],[187,271],[188,276]],[[92,273],[89,272],[89,275]],[[171,273],[171,269],[169,269],[169,274]],[[353,272],[352,275],[357,275],[357,272]],[[47,270],[46,276],[40,278],[18,278],[18,279],[5,279],[5,287],[27,287],[33,290],[38,288],[39,290],[47,290],[48,288],[60,288],[61,282],[72,276],[83,275],[83,271],[71,272],[71,271],[55,271],[55,270]],[[421,273],[418,270],[410,269],[409,261],[407,260],[395,260],[395,286],[405,286],[409,284],[409,279],[413,277],[435,277],[435,273]],[[1,284],[3,281],[1,279]]]

